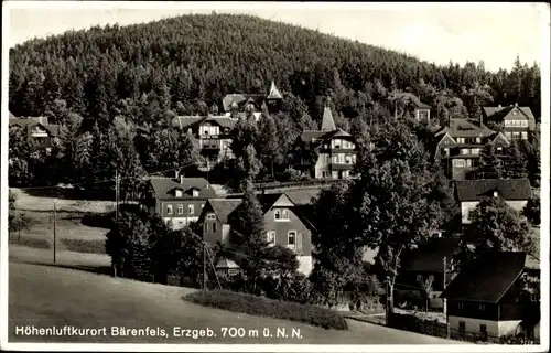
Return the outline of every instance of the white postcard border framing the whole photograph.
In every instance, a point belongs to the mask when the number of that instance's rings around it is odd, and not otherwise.
[[[549,128],[550,128],[550,83],[547,79],[550,75],[550,29],[549,6],[545,3],[534,3],[539,7],[542,21],[541,31],[543,39],[541,43],[542,60],[541,60],[541,96],[542,96],[542,127],[541,127],[541,178],[542,178],[542,223],[541,223],[541,344],[539,346],[515,346],[515,345],[302,345],[302,344],[285,344],[285,345],[247,345],[247,344],[84,344],[84,343],[67,343],[67,344],[50,344],[50,343],[7,343],[8,339],[8,53],[10,28],[10,9],[44,9],[44,8],[63,8],[63,9],[115,9],[115,8],[129,8],[129,9],[159,9],[159,8],[185,8],[193,11],[193,9],[419,9],[425,8],[446,8],[446,9],[471,9],[476,10],[487,8],[487,3],[471,2],[450,2],[450,3],[352,3],[352,2],[95,2],[95,1],[4,1],[2,3],[2,119],[1,119],[1,234],[0,237],[0,346],[3,350],[25,350],[25,351],[158,351],[158,352],[259,352],[259,351],[273,351],[273,352],[321,352],[321,351],[335,351],[335,352],[547,352],[549,350]],[[517,3],[493,3],[491,6],[499,6],[515,8],[522,4]],[[504,24],[507,25],[507,24]],[[521,29],[520,29],[521,30]]]

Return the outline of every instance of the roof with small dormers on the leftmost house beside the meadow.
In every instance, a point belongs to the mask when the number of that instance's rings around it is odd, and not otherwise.
[[[150,180],[156,197],[161,200],[190,200],[190,199],[209,199],[216,197],[216,192],[210,186],[208,181],[204,178],[184,178],[182,183],[169,178],[152,178]],[[175,189],[182,190],[183,196],[176,197],[173,191]],[[199,191],[198,197],[193,197],[191,194],[192,189]]]

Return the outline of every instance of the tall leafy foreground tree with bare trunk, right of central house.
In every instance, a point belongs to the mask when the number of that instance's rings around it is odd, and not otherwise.
[[[388,312],[393,311],[393,287],[402,253],[426,242],[442,222],[436,201],[429,196],[429,180],[413,173],[407,161],[364,161],[354,186],[354,212],[349,215],[356,246],[378,249],[376,260],[388,282]]]

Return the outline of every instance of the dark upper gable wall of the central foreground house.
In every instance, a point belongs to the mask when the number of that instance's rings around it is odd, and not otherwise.
[[[289,212],[289,221],[276,221],[276,210],[287,210]],[[295,231],[296,236],[302,238],[302,246],[295,246],[293,249],[302,256],[310,256],[312,254],[311,232],[292,208],[273,207],[268,211],[264,215],[264,231],[276,232],[276,244],[283,246],[288,245],[289,231]]]

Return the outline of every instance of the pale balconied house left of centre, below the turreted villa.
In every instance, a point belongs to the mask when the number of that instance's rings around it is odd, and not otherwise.
[[[237,118],[228,116],[181,116],[173,119],[173,126],[198,139],[201,154],[205,163],[198,165],[201,171],[209,171],[224,158],[234,158],[229,133]]]

